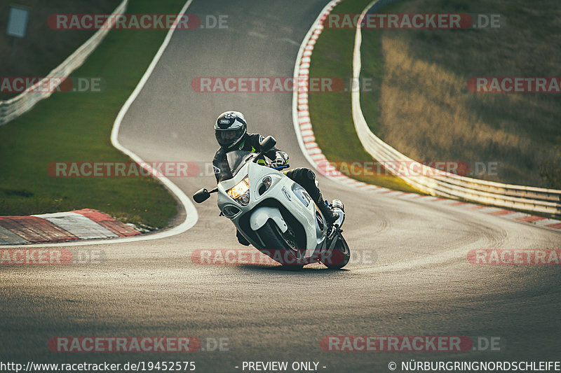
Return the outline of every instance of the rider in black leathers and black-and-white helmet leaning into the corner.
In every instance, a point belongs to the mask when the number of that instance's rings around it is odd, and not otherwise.
[[[215,136],[220,145],[214,160],[212,160],[212,168],[215,171],[217,183],[232,177],[226,157],[227,153],[233,150],[259,153],[261,150],[260,143],[263,141],[263,136],[259,134],[248,134],[248,125],[245,122],[245,117],[238,111],[225,111],[218,116],[215,122]],[[273,160],[273,167],[280,167],[288,162],[288,154],[277,148],[272,148],[265,155],[270,160]],[[313,174],[311,169],[299,167],[285,171],[284,174],[299,185],[302,185],[302,188],[316,202],[328,224],[334,223],[339,218],[339,215],[323,201],[321,192],[316,185],[316,175]],[[241,244],[249,244],[240,232],[237,232],[236,236]]]

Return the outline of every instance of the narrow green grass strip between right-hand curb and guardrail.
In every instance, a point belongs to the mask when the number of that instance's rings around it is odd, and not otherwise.
[[[346,0],[339,3],[332,13],[361,13],[370,0]],[[353,76],[353,46],[354,29],[325,28],[313,48],[311,58],[310,77],[337,77],[349,84]],[[371,45],[365,57],[372,58],[372,62],[381,61],[379,45]],[[379,92],[381,80],[381,63],[369,66],[370,76],[376,78],[372,81],[372,88]],[[323,154],[330,162],[349,164],[351,162],[374,162],[372,156],[363,148],[356,135],[351,111],[351,93],[347,92],[310,92],[310,116],[313,134]],[[339,169],[339,168],[338,168]],[[405,181],[395,176],[386,176],[384,173],[360,169],[357,167],[352,172],[340,169],[342,173],[351,178],[404,192],[419,192]]]

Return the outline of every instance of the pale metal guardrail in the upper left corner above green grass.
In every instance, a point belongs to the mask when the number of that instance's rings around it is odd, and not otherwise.
[[[124,13],[128,5],[128,0],[123,0],[119,6],[115,8],[112,15],[117,15]],[[72,53],[67,59],[65,59],[62,64],[57,66],[53,71],[50,71],[48,75],[34,84],[32,87],[28,87],[27,90],[18,94],[18,96],[12,99],[0,101],[0,125],[5,125],[6,123],[18,118],[23,113],[29,111],[33,106],[46,99],[53,93],[55,87],[53,87],[56,82],[55,79],[67,78],[72,71],[78,69],[86,58],[100,45],[102,40],[107,36],[110,29],[114,27],[115,17],[108,17],[103,26],[95,32],[85,43],[80,45],[78,49]],[[61,82],[62,83],[62,82]],[[43,90],[39,87],[49,86],[52,89]],[[56,85],[58,86],[58,85]]]

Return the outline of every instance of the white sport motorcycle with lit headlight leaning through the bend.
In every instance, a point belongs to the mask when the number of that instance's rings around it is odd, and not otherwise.
[[[198,190],[193,196],[195,202],[202,203],[217,192],[220,215],[229,218],[257,250],[284,266],[302,268],[322,262],[329,269],[344,267],[351,251],[342,236],[342,202],[332,201],[330,207],[339,218],[327,225],[308,192],[280,172],[288,164],[272,167],[266,158],[265,153],[276,145],[276,140],[267,136],[260,145],[259,153],[227,153],[233,177],[210,191]]]

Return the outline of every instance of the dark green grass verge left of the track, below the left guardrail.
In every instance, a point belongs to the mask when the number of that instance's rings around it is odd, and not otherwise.
[[[131,1],[128,13],[177,13],[184,0]],[[102,92],[55,93],[0,127],[0,215],[99,209],[126,223],[164,227],[176,202],[153,178],[57,178],[50,162],[128,162],[109,134],[167,30],[112,30],[73,76],[102,78]]]

